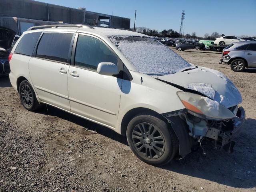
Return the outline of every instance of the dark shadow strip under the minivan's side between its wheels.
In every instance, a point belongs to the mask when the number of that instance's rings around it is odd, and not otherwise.
[[[72,114],[65,112],[63,110],[60,110],[58,108],[47,105],[47,108],[46,108],[46,106],[44,106],[41,110],[37,111],[37,113],[50,115],[50,116],[56,116],[58,118],[73,122],[74,124],[78,124],[78,125],[84,127],[85,129],[88,128],[89,130],[96,131],[98,134],[106,136],[112,140],[116,140],[116,141],[128,146],[128,142],[127,142],[125,136],[122,136],[109,128],[106,128],[106,127],[96,124],[94,122],[85,120],[78,116],[72,115]]]

